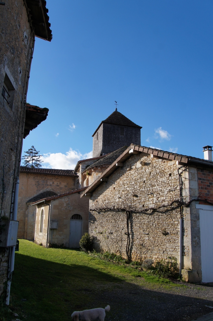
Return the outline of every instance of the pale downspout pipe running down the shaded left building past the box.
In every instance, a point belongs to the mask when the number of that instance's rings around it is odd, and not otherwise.
[[[17,221],[17,210],[18,210],[18,196],[19,196],[19,177],[16,177],[16,185],[15,185],[15,195],[14,195],[14,210],[13,210],[13,221]],[[15,262],[15,246],[10,249],[10,263],[9,263],[9,271],[8,271],[8,282],[7,282],[7,297],[6,297],[6,305],[10,303],[10,286],[12,282],[12,273],[14,271],[14,262]]]

